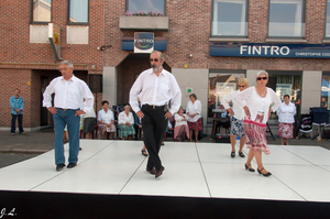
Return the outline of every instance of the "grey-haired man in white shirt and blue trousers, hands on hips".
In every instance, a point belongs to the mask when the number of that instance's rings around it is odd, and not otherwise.
[[[43,107],[47,108],[54,119],[56,171],[62,171],[65,167],[63,130],[66,124],[69,135],[69,164],[67,167],[73,168],[77,165],[80,116],[91,110],[94,106],[94,96],[87,84],[73,74],[74,65],[64,61],[59,64],[59,72],[62,76],[53,79],[43,95]],[[52,94],[55,94],[54,107],[52,106]],[[84,98],[86,105],[81,109]]]

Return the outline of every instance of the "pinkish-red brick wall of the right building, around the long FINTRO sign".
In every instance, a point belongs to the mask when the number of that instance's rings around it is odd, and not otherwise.
[[[112,47],[105,53],[106,66],[118,66],[131,52],[121,51],[121,36],[133,36],[132,31],[119,29],[119,17],[125,12],[125,1],[105,0],[106,44]],[[270,70],[329,70],[328,59],[309,58],[246,58],[210,57],[212,1],[166,1],[169,30],[157,31],[155,35],[167,37],[164,54],[175,68],[209,69],[270,69]],[[306,2],[306,40],[310,44],[321,44],[324,36],[326,0]],[[249,1],[248,37],[251,43],[265,43],[268,32],[268,0]],[[189,58],[188,55],[194,57]]]

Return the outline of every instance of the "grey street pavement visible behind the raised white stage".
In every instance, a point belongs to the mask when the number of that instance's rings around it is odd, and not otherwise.
[[[25,135],[15,134],[11,135],[9,132],[0,131],[0,153],[30,153],[42,154],[54,149],[54,131],[53,128],[25,132]],[[267,133],[267,136],[270,133]],[[173,141],[168,138],[167,141]],[[267,138],[268,144],[280,144],[280,139],[275,136],[275,141],[272,138]],[[210,136],[205,135],[200,142],[212,142]],[[290,145],[316,145],[330,150],[330,141],[322,139],[321,141],[310,139],[292,139]],[[166,146],[166,141],[165,141]]]

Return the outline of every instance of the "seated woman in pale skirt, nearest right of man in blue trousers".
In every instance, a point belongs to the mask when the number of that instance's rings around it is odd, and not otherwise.
[[[116,136],[116,125],[113,112],[109,109],[109,102],[107,100],[102,101],[102,107],[98,112],[98,123],[99,123],[99,139],[107,139],[107,132],[110,132],[110,139],[112,135]]]

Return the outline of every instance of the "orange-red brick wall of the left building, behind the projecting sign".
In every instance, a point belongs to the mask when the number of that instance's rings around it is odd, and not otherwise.
[[[0,127],[10,127],[9,97],[13,89],[22,89],[24,98],[24,127],[38,127],[41,106],[41,85],[38,73],[31,69],[58,69],[50,44],[30,43],[31,0],[0,1]],[[88,74],[101,74],[103,55],[97,47],[105,45],[103,0],[89,1],[89,44],[66,44],[67,0],[53,0],[52,22],[62,31],[62,57],[74,63],[75,69],[88,70]],[[96,65],[96,70],[91,69]],[[57,72],[58,73],[58,72]],[[50,81],[53,77],[50,77]],[[84,78],[87,81],[87,77]],[[31,86],[28,86],[31,81]],[[6,85],[6,86],[2,86]],[[101,96],[99,94],[98,96]],[[101,99],[101,97],[99,97]]]

